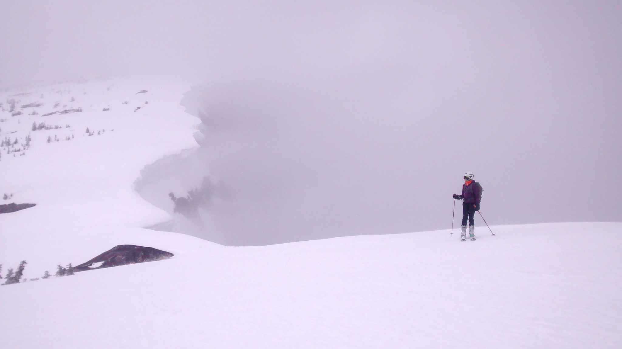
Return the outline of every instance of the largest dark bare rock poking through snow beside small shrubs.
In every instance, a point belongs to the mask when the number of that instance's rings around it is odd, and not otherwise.
[[[111,266],[142,263],[146,261],[159,261],[172,257],[170,252],[158,250],[153,247],[136,245],[116,245],[110,250],[96,256],[92,260],[73,267],[74,271],[85,271]]]

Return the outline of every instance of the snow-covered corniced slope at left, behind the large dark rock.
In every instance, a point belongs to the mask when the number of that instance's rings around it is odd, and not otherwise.
[[[140,244],[140,227],[170,219],[132,184],[144,166],[197,146],[200,120],[179,105],[188,89],[110,79],[0,93],[1,203],[37,204],[0,215],[5,270],[27,260],[35,278]]]

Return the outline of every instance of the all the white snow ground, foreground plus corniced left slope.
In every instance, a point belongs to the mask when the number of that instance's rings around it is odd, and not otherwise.
[[[37,204],[0,215],[3,276],[27,260],[26,278],[40,278],[119,244],[175,256],[1,286],[0,348],[622,348],[620,223],[264,247],[142,229],[170,217],[132,190],[140,170],[197,146],[185,88],[55,88],[0,96],[4,109],[7,97],[44,104],[35,116],[0,114],[2,140],[32,137],[26,155],[0,148],[0,195],[13,194],[0,203]],[[40,116],[72,96],[82,112]],[[32,131],[33,120],[63,129]]]

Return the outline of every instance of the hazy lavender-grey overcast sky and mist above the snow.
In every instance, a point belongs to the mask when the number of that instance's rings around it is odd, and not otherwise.
[[[491,224],[622,220],[618,1],[0,2],[0,86],[119,75],[197,85],[224,243],[445,229],[467,170]]]

